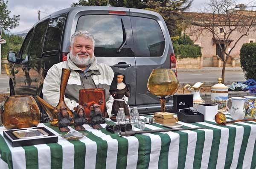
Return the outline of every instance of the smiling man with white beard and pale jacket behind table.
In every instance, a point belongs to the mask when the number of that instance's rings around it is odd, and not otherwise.
[[[104,88],[106,92],[106,107],[111,115],[113,97],[109,88],[114,76],[113,70],[105,64],[97,63],[94,56],[93,36],[88,31],[77,31],[71,36],[70,53],[67,61],[53,65],[44,79],[44,100],[52,106],[57,106],[61,85],[62,68],[70,69],[70,77],[65,90],[65,103],[73,110],[79,105],[79,90],[84,88]]]

